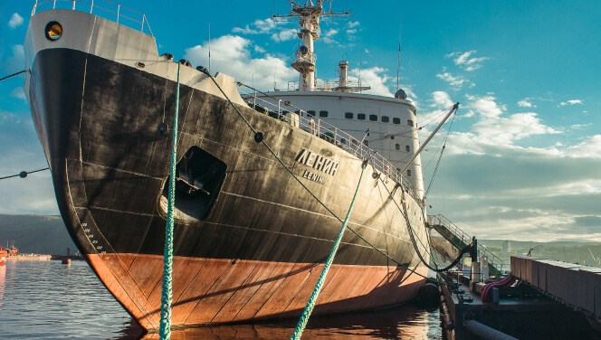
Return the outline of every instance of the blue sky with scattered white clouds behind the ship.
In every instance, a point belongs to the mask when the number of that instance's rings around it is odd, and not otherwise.
[[[2,2],[0,77],[24,70],[34,3]],[[159,53],[208,67],[210,26],[213,73],[261,90],[298,80],[296,24],[270,18],[288,14],[287,1],[120,5],[146,14]],[[351,15],[321,24],[320,80],[335,80],[347,60],[369,93],[392,96],[400,29],[399,87],[417,125],[460,102],[422,156],[427,187],[448,133],[428,214],[482,239],[601,241],[601,2],[335,0],[332,9]],[[0,176],[46,166],[23,82],[0,82]],[[0,181],[0,213],[57,214],[50,174]]]

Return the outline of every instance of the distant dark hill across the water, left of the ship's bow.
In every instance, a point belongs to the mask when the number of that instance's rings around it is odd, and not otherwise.
[[[61,216],[0,214],[0,246],[14,240],[22,253],[66,254],[77,251]]]

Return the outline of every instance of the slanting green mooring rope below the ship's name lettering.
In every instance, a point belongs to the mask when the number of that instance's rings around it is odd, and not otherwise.
[[[307,302],[307,306],[305,306],[305,310],[302,311],[302,315],[300,316],[299,323],[294,329],[294,333],[291,335],[291,340],[300,340],[300,336],[302,336],[302,331],[305,330],[305,326],[309,322],[309,317],[311,316],[311,312],[313,311],[313,307],[317,303],[317,298],[320,297],[321,288],[323,288],[323,284],[326,282],[326,276],[328,276],[329,267],[332,265],[334,261],[334,257],[336,256],[336,252],[339,249],[340,241],[342,241],[342,235],[344,231],[347,229],[348,218],[350,218],[350,212],[353,211],[353,205],[355,205],[355,199],[357,198],[357,194],[359,192],[359,185],[361,184],[361,178],[363,177],[363,172],[367,166],[367,161],[363,162],[361,165],[361,175],[359,175],[359,182],[357,184],[357,189],[355,190],[355,195],[353,196],[353,200],[350,203],[350,207],[348,208],[347,217],[342,222],[342,227],[339,231],[339,236],[334,242],[334,247],[329,251],[328,260],[326,260],[325,266],[321,270],[320,279],[317,280],[317,284],[315,288],[313,288],[313,292],[309,297],[309,301]]]

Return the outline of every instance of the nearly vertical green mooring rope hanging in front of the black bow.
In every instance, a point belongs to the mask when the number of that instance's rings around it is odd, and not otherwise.
[[[177,63],[176,114],[173,118],[173,144],[171,147],[171,172],[169,176],[169,202],[167,204],[167,228],[165,231],[165,256],[163,263],[163,293],[161,296],[160,339],[171,338],[171,281],[173,274],[173,210],[176,205],[177,164],[177,118],[179,116],[179,63]]]

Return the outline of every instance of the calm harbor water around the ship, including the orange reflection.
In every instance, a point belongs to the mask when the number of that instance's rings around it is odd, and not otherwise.
[[[172,339],[287,339],[297,320],[205,326]],[[0,266],[0,338],[157,339],[142,335],[84,261],[7,261]],[[442,339],[437,309],[405,305],[386,310],[313,317],[303,338]]]

